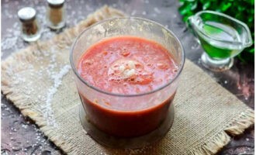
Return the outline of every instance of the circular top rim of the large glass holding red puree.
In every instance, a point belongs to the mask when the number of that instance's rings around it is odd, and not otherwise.
[[[108,21],[111,21],[111,20],[118,20],[118,19],[136,19],[136,20],[142,20],[142,21],[145,21],[145,22],[151,22],[157,26],[160,26],[162,29],[165,29],[168,33],[171,33],[171,35],[175,38],[175,40],[177,41],[179,47],[181,47],[181,52],[182,52],[182,57],[181,57],[181,61],[178,63],[178,72],[177,74],[175,74],[175,77],[173,79],[171,79],[171,81],[169,81],[168,83],[162,85],[161,87],[159,88],[156,88],[154,89],[153,91],[147,91],[147,92],[144,92],[144,93],[138,93],[138,94],[131,94],[131,95],[124,95],[124,94],[119,94],[119,93],[112,93],[112,92],[109,92],[109,91],[103,91],[95,86],[93,86],[92,84],[89,84],[87,81],[85,81],[84,78],[82,78],[80,76],[80,74],[78,74],[78,71],[74,65],[74,61],[73,61],[73,50],[74,50],[74,47],[75,45],[78,43],[78,40],[81,38],[81,36],[83,36],[85,34],[85,32],[87,32],[89,29],[92,29],[92,27],[94,26],[98,26],[104,22],[108,22]],[[157,92],[157,91],[160,91],[162,90],[163,88],[166,88],[168,85],[172,84],[173,81],[175,81],[177,79],[177,77],[182,73],[182,69],[184,67],[184,64],[185,64],[185,52],[184,52],[184,48],[182,46],[182,43],[180,40],[178,40],[178,37],[175,36],[174,33],[171,32],[171,30],[165,28],[164,26],[162,26],[161,24],[157,23],[157,22],[154,22],[153,20],[150,20],[150,19],[144,19],[144,18],[140,18],[140,17],[114,17],[114,18],[111,18],[111,19],[105,19],[105,20],[102,20],[100,22],[96,22],[95,24],[92,24],[91,26],[88,26],[85,30],[83,30],[77,37],[76,39],[74,40],[74,43],[72,44],[72,47],[71,47],[71,50],[70,50],[70,63],[71,63],[71,67],[72,67],[72,70],[74,71],[74,74],[79,78],[79,80],[83,83],[83,84],[86,84],[89,88],[92,88],[94,89],[95,91],[98,91],[98,92],[101,92],[105,95],[112,95],[112,96],[117,96],[117,97],[136,97],[136,96],[143,96],[143,95],[150,95],[150,94],[153,94],[154,92]]]

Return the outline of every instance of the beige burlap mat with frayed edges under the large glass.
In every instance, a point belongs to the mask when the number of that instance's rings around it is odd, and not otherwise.
[[[254,111],[185,61],[175,97],[175,122],[159,143],[139,150],[115,150],[95,143],[81,126],[81,104],[69,51],[85,27],[122,16],[103,7],[47,42],[37,42],[2,62],[2,93],[68,154],[213,154],[254,123]]]

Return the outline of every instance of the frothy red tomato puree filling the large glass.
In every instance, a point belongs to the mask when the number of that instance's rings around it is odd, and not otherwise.
[[[168,50],[159,43],[133,36],[112,37],[95,43],[78,63],[78,74],[88,84],[122,95],[160,88],[171,81],[177,71],[177,64]],[[163,103],[135,111],[130,111],[129,105],[127,109],[122,105],[123,109],[119,110],[88,101],[84,95],[81,98],[88,118],[95,126],[114,136],[130,137],[156,129],[166,117],[174,94]]]

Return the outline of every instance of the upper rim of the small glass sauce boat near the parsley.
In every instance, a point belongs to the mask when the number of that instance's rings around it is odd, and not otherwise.
[[[234,22],[237,22],[238,24],[240,24],[241,26],[244,27],[244,29],[246,29],[247,31],[247,36],[248,36],[248,42],[245,41],[227,41],[227,40],[217,40],[215,38],[210,38],[208,35],[206,35],[206,33],[202,32],[201,29],[198,29],[199,30],[199,33],[202,34],[202,36],[206,37],[207,39],[209,40],[216,40],[217,42],[224,42],[224,43],[229,43],[229,44],[236,44],[236,46],[244,46],[244,47],[250,47],[251,44],[252,44],[252,39],[251,39],[251,31],[250,29],[248,28],[248,26],[244,23],[244,22],[241,22],[240,20],[238,19],[235,19],[234,17],[230,16],[230,15],[226,15],[224,13],[221,13],[221,12],[215,12],[215,11],[211,11],[211,10],[202,10],[200,12],[197,12],[195,15],[192,15],[189,17],[189,19],[193,18],[193,17],[198,17],[200,15],[202,15],[203,13],[209,13],[209,14],[213,14],[213,15],[220,15],[224,18],[227,18],[227,19],[230,19],[230,20],[233,20]],[[195,29],[197,29],[195,27]]]

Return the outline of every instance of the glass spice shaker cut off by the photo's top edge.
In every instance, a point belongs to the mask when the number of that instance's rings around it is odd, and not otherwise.
[[[47,25],[50,29],[61,29],[65,26],[66,12],[64,0],[47,0]]]

